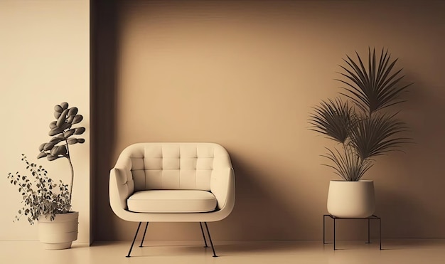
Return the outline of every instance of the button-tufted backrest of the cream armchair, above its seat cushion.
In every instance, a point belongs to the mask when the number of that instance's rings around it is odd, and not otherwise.
[[[134,191],[210,191],[213,171],[232,166],[227,151],[214,143],[136,143],[118,161],[131,171]]]

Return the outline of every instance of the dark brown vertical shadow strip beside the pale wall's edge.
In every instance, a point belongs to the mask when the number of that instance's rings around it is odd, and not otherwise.
[[[92,1],[91,51],[91,119],[93,141],[91,153],[92,236],[103,239],[109,233],[103,223],[109,222],[108,176],[115,145],[117,93],[117,3]],[[100,191],[102,190],[102,191]],[[107,206],[108,205],[108,206]]]

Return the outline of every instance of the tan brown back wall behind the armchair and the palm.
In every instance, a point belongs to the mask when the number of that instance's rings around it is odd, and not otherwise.
[[[385,238],[445,238],[445,3],[391,3],[125,1],[117,74],[107,77],[117,82],[111,160],[134,142],[218,142],[232,157],[237,200],[210,224],[213,238],[321,239],[337,178],[320,165],[328,142],[308,130],[308,115],[339,91],[345,54],[385,47],[415,83],[402,117],[416,144],[365,176],[375,181],[375,213]],[[100,177],[97,197],[107,197]],[[97,207],[97,239],[132,238],[135,223],[117,219],[107,199]],[[364,236],[363,227],[344,223],[341,236]],[[193,223],[149,230],[149,239],[200,239]]]

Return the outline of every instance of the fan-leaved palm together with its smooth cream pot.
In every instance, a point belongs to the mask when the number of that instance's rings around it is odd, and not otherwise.
[[[361,180],[375,163],[375,157],[400,150],[409,138],[407,130],[390,107],[404,102],[402,92],[409,84],[402,84],[402,69],[395,70],[398,59],[382,49],[376,59],[375,49],[368,50],[368,67],[356,53],[343,59],[345,66],[338,79],[343,91],[334,100],[323,100],[313,107],[309,123],[311,130],[336,142],[326,147],[322,155],[330,163],[340,181],[331,181],[328,190],[328,212],[341,218],[365,218],[375,211],[373,181]]]

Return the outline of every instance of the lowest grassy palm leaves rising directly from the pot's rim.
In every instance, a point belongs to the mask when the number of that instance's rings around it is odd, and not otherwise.
[[[321,156],[331,160],[335,166],[331,164],[323,165],[333,168],[335,173],[345,181],[359,181],[363,174],[372,167],[372,161],[361,159],[355,154],[354,149],[347,144],[343,145],[344,153],[339,152],[338,149],[335,149],[335,152],[326,149],[328,153]]]

